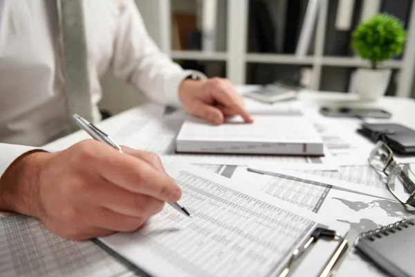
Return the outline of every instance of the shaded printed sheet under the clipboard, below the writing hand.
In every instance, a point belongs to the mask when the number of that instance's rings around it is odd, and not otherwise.
[[[71,242],[33,217],[0,218],[0,276],[136,276],[93,242]]]

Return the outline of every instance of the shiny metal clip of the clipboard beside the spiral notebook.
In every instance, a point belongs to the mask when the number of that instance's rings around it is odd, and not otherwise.
[[[302,256],[304,252],[308,250],[308,247],[310,247],[311,244],[314,244],[320,239],[324,240],[338,240],[339,244],[338,247],[335,249],[333,254],[331,255],[331,258],[329,259],[329,262],[324,266],[324,269],[322,272],[318,275],[320,277],[324,276],[330,276],[330,274],[333,271],[333,268],[335,264],[340,260],[340,257],[342,254],[347,250],[349,245],[347,244],[347,240],[345,240],[339,233],[333,230],[324,229],[324,228],[316,228],[313,233],[311,233],[310,238],[302,245],[302,247],[299,247],[293,251],[291,254],[291,258],[288,261],[288,265],[286,268],[283,269],[281,274],[279,274],[279,277],[286,277],[288,276],[288,273],[291,271],[293,264],[295,261]]]

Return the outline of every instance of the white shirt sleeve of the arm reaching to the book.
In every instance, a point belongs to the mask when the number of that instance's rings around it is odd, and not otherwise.
[[[160,104],[181,105],[178,88],[192,74],[205,79],[199,71],[185,71],[162,53],[148,35],[133,0],[118,1],[118,30],[114,42],[114,75],[135,85]]]

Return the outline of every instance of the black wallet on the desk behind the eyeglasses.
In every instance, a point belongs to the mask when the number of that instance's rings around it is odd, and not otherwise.
[[[374,143],[384,141],[397,154],[415,154],[415,131],[394,123],[363,123],[358,133]]]

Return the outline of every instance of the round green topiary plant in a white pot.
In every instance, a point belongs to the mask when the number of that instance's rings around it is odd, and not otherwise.
[[[391,69],[380,67],[380,62],[402,53],[406,38],[402,22],[385,14],[374,15],[353,31],[353,51],[371,64],[370,68],[358,69],[356,73],[356,91],[361,99],[376,100],[385,94]]]

